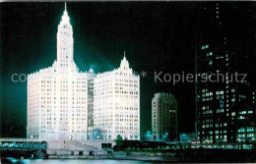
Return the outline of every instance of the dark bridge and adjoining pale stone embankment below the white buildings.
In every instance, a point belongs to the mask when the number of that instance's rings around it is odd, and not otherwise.
[[[0,138],[0,157],[91,158],[108,153],[112,140],[39,140]]]

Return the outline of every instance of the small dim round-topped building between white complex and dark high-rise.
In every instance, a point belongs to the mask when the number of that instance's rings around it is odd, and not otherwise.
[[[152,139],[177,139],[177,101],[174,95],[156,93],[152,99]]]

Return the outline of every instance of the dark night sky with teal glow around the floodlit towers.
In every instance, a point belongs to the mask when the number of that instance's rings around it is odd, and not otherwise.
[[[125,51],[134,71],[147,72],[147,77],[141,78],[144,132],[151,130],[151,101],[156,92],[175,95],[179,133],[194,131],[195,84],[154,82],[154,72],[194,73],[196,20],[202,3],[67,3],[74,32],[74,60],[81,71],[93,68],[100,73],[118,68]],[[241,32],[239,27],[246,27],[243,20],[250,17],[246,12],[255,9],[249,3],[244,8],[230,3],[233,13],[239,14],[238,18],[229,16],[237,25],[237,33]],[[26,137],[27,82],[12,82],[11,77],[52,65],[63,11],[63,2],[0,4],[0,137]]]

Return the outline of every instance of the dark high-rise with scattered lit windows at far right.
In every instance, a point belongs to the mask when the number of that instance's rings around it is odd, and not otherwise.
[[[216,2],[202,3],[199,9],[196,134],[202,143],[253,141],[256,137],[253,83],[248,76],[243,81],[238,76],[250,74],[253,54],[239,44],[242,40],[235,32],[241,27],[233,27],[234,8]]]

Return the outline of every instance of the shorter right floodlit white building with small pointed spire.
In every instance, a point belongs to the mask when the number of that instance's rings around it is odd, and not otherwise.
[[[93,118],[89,139],[140,139],[140,77],[125,56],[118,69],[96,75]]]

